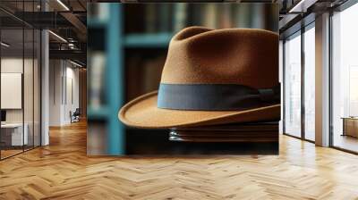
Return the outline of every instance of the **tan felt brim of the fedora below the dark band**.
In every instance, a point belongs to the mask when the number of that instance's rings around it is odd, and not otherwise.
[[[157,107],[158,91],[125,104],[118,118],[125,125],[143,129],[166,129],[249,121],[278,121],[280,104],[244,111],[183,111]]]

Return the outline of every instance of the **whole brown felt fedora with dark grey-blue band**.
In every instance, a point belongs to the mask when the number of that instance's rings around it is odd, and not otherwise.
[[[170,41],[158,91],[118,117],[150,129],[277,121],[279,99],[277,33],[189,27]]]

